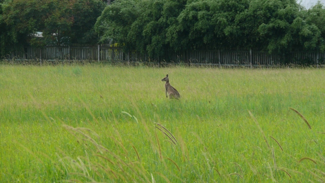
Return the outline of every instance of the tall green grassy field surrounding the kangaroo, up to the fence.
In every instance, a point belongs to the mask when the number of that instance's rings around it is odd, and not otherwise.
[[[166,98],[166,74],[180,100]],[[324,181],[324,78],[1,65],[0,182]]]

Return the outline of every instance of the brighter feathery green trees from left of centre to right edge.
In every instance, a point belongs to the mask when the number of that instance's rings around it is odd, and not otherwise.
[[[119,0],[95,24],[102,41],[150,56],[166,50],[325,51],[325,9],[296,0]]]

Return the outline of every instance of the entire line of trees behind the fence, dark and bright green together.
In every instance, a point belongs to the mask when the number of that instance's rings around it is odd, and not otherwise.
[[[325,51],[325,8],[296,0],[0,0],[2,55],[26,45],[107,43],[149,56],[193,49]],[[32,35],[43,32],[43,38]]]

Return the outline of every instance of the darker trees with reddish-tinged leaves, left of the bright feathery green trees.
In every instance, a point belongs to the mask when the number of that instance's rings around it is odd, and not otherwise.
[[[106,6],[101,0],[0,0],[0,54],[27,45],[98,43],[94,24]]]

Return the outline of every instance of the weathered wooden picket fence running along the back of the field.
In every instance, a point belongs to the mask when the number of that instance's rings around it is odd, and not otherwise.
[[[150,58],[136,51],[123,52],[119,47],[101,45],[48,45],[44,48],[25,48],[8,54],[5,59],[16,60],[92,60],[127,61],[153,63],[186,63],[192,65],[267,67],[284,64],[324,65],[325,53],[290,52],[286,55],[269,54],[261,51],[196,50],[166,52],[164,56]]]

